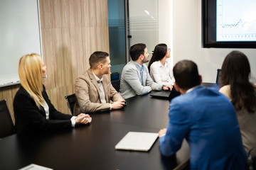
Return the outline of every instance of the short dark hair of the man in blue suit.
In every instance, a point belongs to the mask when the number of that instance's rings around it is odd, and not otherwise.
[[[191,89],[201,84],[196,63],[190,60],[182,60],[174,66],[174,78],[179,88]]]

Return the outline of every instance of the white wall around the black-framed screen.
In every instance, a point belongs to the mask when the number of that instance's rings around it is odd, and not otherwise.
[[[198,64],[203,81],[215,82],[217,69],[221,68],[225,55],[232,50],[240,50],[247,55],[252,77],[256,78],[256,49],[202,48],[201,0],[170,0],[169,3],[166,1],[159,0],[159,42],[166,41],[163,38],[166,30],[162,30],[161,21],[171,22],[172,19],[172,23],[166,25],[173,26],[173,36],[169,42],[173,44],[174,64],[184,59],[193,60]],[[161,9],[162,3],[166,6]],[[167,8],[171,10],[171,19]]]

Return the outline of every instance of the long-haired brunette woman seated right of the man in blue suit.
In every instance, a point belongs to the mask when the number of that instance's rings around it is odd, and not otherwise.
[[[256,147],[256,87],[250,82],[250,63],[240,51],[230,52],[221,67],[220,93],[230,98],[238,116],[245,151]]]

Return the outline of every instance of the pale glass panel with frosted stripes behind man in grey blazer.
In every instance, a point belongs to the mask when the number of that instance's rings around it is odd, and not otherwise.
[[[159,43],[158,0],[127,0],[127,22],[128,49],[134,44],[144,43],[152,54]]]

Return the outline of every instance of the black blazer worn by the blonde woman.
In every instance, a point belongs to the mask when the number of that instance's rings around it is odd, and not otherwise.
[[[55,130],[71,128],[72,115],[66,115],[57,111],[50,103],[46,88],[43,86],[43,98],[49,106],[49,119],[46,119],[46,112],[41,106],[36,106],[36,102],[28,92],[21,86],[14,97],[14,115],[17,133],[38,132],[45,130]]]

